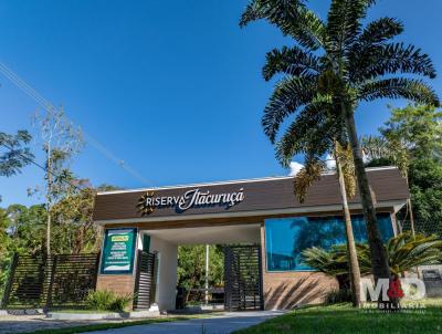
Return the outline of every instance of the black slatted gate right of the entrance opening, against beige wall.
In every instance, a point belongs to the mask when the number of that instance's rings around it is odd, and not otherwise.
[[[259,244],[224,247],[224,307],[263,310],[262,258]]]

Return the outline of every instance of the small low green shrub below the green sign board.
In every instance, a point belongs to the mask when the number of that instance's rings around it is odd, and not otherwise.
[[[130,303],[130,295],[118,295],[107,290],[91,291],[86,298],[90,310],[123,312]]]

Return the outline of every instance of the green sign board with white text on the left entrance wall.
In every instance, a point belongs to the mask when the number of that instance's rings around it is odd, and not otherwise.
[[[136,229],[107,229],[102,254],[102,274],[131,273]]]

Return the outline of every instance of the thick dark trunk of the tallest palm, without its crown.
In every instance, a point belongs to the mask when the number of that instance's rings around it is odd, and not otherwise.
[[[352,157],[355,160],[355,173],[358,180],[359,196],[362,205],[364,218],[367,226],[368,244],[370,247],[371,254],[371,271],[375,276],[375,282],[379,279],[391,279],[390,268],[383,248],[382,240],[380,238],[378,229],[378,220],[376,217],[376,209],[373,200],[371,198],[370,187],[368,182],[367,173],[364,166],[362,153],[356,133],[356,124],[354,117],[354,111],[351,107],[341,104],[343,114],[346,122],[348,138],[352,149]]]

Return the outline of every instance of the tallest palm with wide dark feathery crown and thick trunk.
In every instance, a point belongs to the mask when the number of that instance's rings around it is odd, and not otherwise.
[[[391,276],[356,132],[355,111],[360,102],[377,98],[408,98],[430,105],[439,105],[439,98],[425,82],[415,79],[417,75],[435,77],[429,56],[413,45],[391,42],[403,31],[401,22],[381,18],[362,27],[367,10],[375,2],[332,0],[324,21],[303,0],[251,0],[240,27],[264,19],[295,41],[292,46],[269,52],[263,67],[266,81],[276,74],[283,75],[262,118],[264,132],[272,143],[292,114],[296,115],[295,121],[285,135],[294,137],[305,131],[311,118],[344,121],[367,223],[372,273],[377,280]],[[413,77],[396,74],[412,74]],[[304,127],[297,128],[299,124]]]

